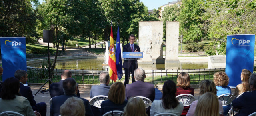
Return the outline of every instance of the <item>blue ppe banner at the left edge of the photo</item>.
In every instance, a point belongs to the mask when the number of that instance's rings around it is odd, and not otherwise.
[[[18,69],[27,70],[26,37],[0,37],[3,81]]]

